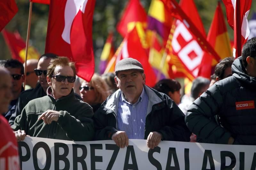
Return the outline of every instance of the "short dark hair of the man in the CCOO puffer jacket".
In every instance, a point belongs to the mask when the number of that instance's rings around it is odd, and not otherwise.
[[[247,67],[246,58],[256,56],[256,38],[249,39],[243,46],[242,49],[242,63],[243,66]]]

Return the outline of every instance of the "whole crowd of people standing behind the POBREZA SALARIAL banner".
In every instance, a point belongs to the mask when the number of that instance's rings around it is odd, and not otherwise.
[[[241,57],[222,60],[211,79],[197,77],[182,98],[176,80],[145,85],[150,75],[132,58],[117,62],[115,73],[94,74],[89,82],[76,76],[67,57],[52,53],[28,60],[26,75],[18,60],[2,60],[0,126],[12,141],[26,136],[114,140],[124,148],[129,139],[146,139],[150,149],[161,140],[255,145],[255,56],[252,38]]]

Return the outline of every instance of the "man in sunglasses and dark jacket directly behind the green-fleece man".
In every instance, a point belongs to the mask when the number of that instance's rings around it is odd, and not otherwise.
[[[57,58],[57,55],[52,53],[43,54],[39,58],[37,68],[35,69],[35,74],[38,76],[39,83],[36,88],[28,89],[20,94],[16,109],[9,119],[10,125],[13,125],[15,118],[21,114],[22,109],[30,100],[46,96],[46,89],[49,87],[46,80],[47,67],[50,65],[50,61],[55,58]]]

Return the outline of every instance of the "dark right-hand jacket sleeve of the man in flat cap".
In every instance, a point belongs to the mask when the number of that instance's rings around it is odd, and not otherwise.
[[[164,126],[159,132],[163,134],[163,140],[190,141],[191,132],[188,130],[184,114],[171,99],[167,98],[169,111],[169,126]]]

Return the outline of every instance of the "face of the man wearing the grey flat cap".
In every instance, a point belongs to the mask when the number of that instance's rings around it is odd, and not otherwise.
[[[145,84],[145,74],[136,70],[120,71],[115,77],[117,87],[121,89],[124,95],[139,96]]]

